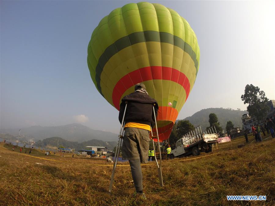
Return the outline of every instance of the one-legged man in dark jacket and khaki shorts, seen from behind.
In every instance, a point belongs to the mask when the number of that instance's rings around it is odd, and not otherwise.
[[[146,199],[142,186],[142,172],[140,163],[147,163],[149,150],[149,134],[151,126],[155,126],[153,105],[155,104],[155,114],[158,113],[158,104],[146,91],[143,83],[138,83],[134,87],[134,92],[123,97],[119,110],[119,122],[123,124],[122,118],[127,103],[125,113],[125,126],[122,144],[122,159],[129,160],[132,178],[136,191],[134,196]]]

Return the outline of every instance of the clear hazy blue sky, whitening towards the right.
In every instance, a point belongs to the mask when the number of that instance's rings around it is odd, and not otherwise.
[[[138,1],[131,1],[138,2]],[[178,119],[209,107],[246,109],[246,84],[275,99],[274,1],[149,1],[196,33],[200,68]],[[99,21],[130,1],[1,1],[1,128],[81,123],[118,133],[96,90],[87,45]]]

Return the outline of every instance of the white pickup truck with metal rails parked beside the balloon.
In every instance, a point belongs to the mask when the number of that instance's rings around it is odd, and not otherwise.
[[[176,149],[171,151],[170,158],[182,157],[189,154],[194,156],[201,152],[211,152],[212,144],[218,142],[218,134],[215,126],[202,132],[200,125],[188,132],[176,143]]]

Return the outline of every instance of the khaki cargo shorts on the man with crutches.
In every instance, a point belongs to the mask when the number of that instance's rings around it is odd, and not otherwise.
[[[137,160],[145,164],[148,162],[149,131],[146,129],[127,127],[124,131],[122,143],[122,159]]]

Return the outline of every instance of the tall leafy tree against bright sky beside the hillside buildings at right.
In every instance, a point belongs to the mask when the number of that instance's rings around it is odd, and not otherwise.
[[[264,91],[254,85],[246,85],[244,94],[241,96],[244,104],[248,104],[247,110],[252,117],[258,120],[264,120],[269,107],[266,105],[268,99]]]

